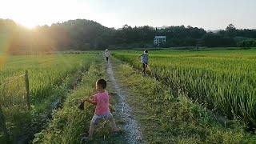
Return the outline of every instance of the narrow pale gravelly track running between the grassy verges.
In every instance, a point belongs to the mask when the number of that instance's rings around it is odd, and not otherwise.
[[[125,129],[127,132],[128,143],[143,143],[142,133],[138,122],[133,118],[132,107],[126,102],[126,96],[122,93],[122,89],[119,88],[116,78],[114,77],[112,62],[106,63],[106,71],[110,78],[110,82],[114,87],[114,92],[118,95],[118,106],[116,107],[116,113],[121,116],[122,120],[126,122]]]

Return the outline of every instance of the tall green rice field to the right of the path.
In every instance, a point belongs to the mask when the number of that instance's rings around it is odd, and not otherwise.
[[[141,69],[142,51],[114,57]],[[256,127],[256,50],[149,51],[151,75],[228,118]]]

